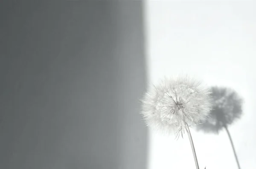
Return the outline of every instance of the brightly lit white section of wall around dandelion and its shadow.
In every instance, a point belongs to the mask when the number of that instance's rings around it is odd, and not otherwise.
[[[207,85],[227,86],[244,99],[230,133],[242,169],[256,168],[256,3],[146,1],[149,81],[180,72]],[[151,132],[149,169],[195,168],[187,137],[174,140]],[[199,166],[236,169],[225,131],[192,130]]]

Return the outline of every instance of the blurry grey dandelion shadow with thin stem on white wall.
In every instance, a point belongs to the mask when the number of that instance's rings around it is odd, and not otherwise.
[[[243,101],[233,89],[212,87],[211,92],[213,108],[210,112],[210,117],[205,122],[198,125],[197,129],[203,130],[204,132],[214,133],[218,133],[220,130],[225,129],[233,148],[236,163],[240,169],[239,160],[236,155],[228,126],[241,117]]]

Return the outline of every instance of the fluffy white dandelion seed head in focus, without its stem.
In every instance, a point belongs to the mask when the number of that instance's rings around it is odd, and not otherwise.
[[[188,76],[165,78],[142,101],[142,115],[154,130],[182,135],[186,125],[205,120],[212,108],[210,91]]]

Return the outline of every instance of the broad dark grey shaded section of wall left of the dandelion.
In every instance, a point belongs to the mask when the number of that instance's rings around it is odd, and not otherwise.
[[[1,4],[1,169],[146,168],[142,4]]]

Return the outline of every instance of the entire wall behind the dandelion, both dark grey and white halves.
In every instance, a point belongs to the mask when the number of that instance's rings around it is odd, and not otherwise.
[[[145,127],[148,83],[188,73],[232,88],[228,126],[241,169],[256,168],[256,3],[4,1],[0,168],[195,168],[185,135]],[[191,129],[201,168],[236,169],[227,133]]]

